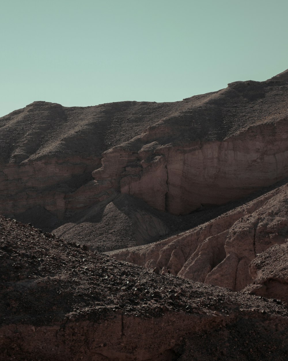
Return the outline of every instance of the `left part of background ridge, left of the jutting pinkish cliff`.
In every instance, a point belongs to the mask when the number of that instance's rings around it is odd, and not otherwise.
[[[145,102],[65,108],[36,101],[0,118],[1,213],[51,230],[108,199],[95,191],[92,171],[102,152],[155,121],[155,107],[169,111],[169,104]]]

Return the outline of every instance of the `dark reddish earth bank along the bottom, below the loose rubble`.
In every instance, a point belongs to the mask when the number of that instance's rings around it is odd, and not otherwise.
[[[253,311],[241,313],[241,316],[167,313],[149,319],[111,314],[97,323],[68,321],[64,325],[40,327],[8,325],[0,329],[0,360],[17,358],[20,361],[29,355],[30,359],[43,361],[172,361],[191,360],[192,356],[194,360],[201,361],[203,357],[208,359],[211,356],[220,356],[222,360],[242,356],[243,360],[248,360],[251,355],[262,360],[274,357],[284,361],[287,356],[284,330],[287,329],[288,319],[260,316]],[[271,327],[271,331],[273,329],[270,339],[263,332],[267,327]],[[226,330],[225,336],[222,330]],[[265,349],[252,344],[257,332],[257,336],[265,342]],[[218,347],[214,349],[208,345],[205,348],[199,339],[209,338],[212,347],[215,347],[215,335],[222,337],[222,342],[217,340]],[[227,342],[234,338],[234,343],[239,343],[235,336],[243,337],[240,341],[243,349],[235,349]]]

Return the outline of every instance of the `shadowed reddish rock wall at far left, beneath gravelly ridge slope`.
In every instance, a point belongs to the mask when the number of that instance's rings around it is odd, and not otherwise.
[[[69,208],[72,194],[76,209],[89,206],[94,201],[89,199],[89,186],[94,182],[79,188],[91,179],[90,174],[99,161],[99,158],[75,157],[2,165],[1,213],[15,215],[34,206],[43,206],[61,219]]]

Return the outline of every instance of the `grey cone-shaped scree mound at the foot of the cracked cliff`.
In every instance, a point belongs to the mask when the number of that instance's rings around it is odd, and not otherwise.
[[[191,214],[177,217],[160,212],[136,197],[120,194],[108,204],[97,204],[76,213],[69,223],[54,229],[53,233],[68,241],[104,252],[165,239],[167,234],[175,235],[199,226],[237,205],[239,202],[219,207],[202,206]],[[31,217],[27,217],[27,212],[25,215],[22,220],[28,222]]]

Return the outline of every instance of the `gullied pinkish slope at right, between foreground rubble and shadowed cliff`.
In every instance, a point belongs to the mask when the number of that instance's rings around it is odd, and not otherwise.
[[[110,252],[161,273],[240,291],[249,264],[288,237],[288,186],[278,187],[210,222],[157,243]]]

